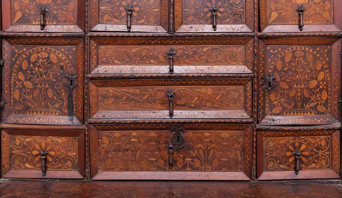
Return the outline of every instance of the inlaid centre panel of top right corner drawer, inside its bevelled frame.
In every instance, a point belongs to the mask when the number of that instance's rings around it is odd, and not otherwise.
[[[268,0],[269,24],[295,24],[299,22],[298,4],[305,8],[304,24],[333,23],[332,0]]]

